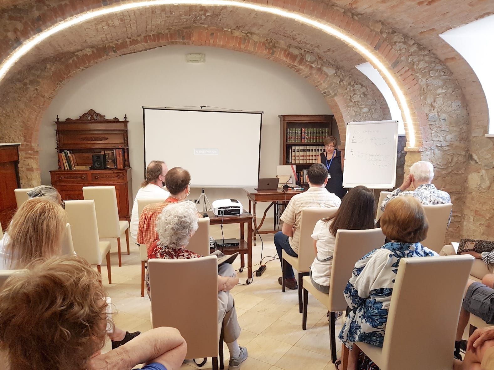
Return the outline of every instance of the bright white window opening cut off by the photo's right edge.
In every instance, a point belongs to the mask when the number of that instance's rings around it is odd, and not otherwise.
[[[468,62],[482,85],[489,109],[489,131],[486,136],[494,136],[493,35],[494,15],[439,35]]]

